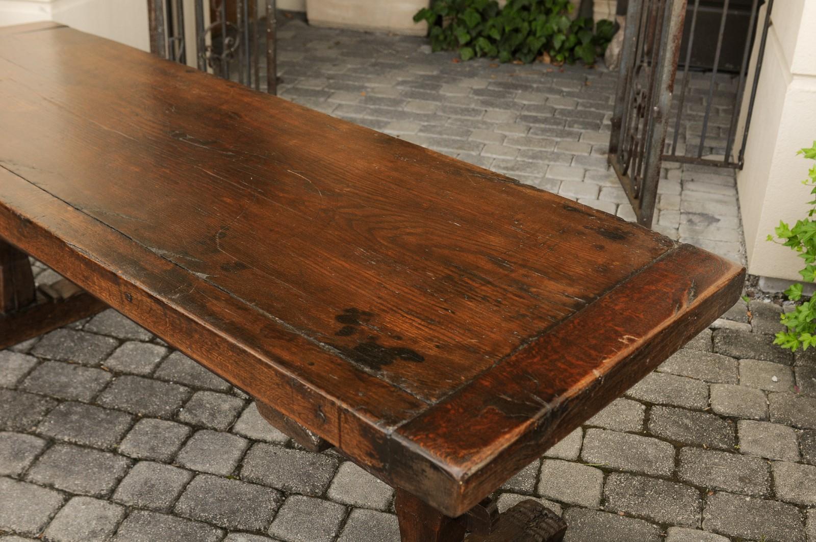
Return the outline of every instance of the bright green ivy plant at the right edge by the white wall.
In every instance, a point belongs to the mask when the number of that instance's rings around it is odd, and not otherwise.
[[[809,160],[816,160],[816,141],[808,149],[800,149],[797,153]],[[813,187],[811,194],[816,195],[816,166],[811,167],[808,179],[802,184]],[[801,269],[799,274],[807,282],[816,282],[816,199],[808,202],[810,210],[805,219],[797,220],[792,228],[782,220],[776,228],[776,238],[768,236],[769,241],[778,242],[785,247],[799,253],[799,257],[805,260],[805,269]],[[800,301],[802,299],[802,285],[792,284],[785,291],[789,300]],[[816,346],[816,296],[810,300],[802,301],[796,305],[796,309],[790,313],[783,313],[781,321],[787,331],[780,331],[776,334],[774,344],[778,344],[783,349],[790,349],[796,352],[801,347],[803,350]]]

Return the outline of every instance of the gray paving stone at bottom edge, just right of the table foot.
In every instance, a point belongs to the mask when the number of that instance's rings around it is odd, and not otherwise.
[[[659,526],[616,513],[572,508],[564,513],[564,542],[661,542]]]

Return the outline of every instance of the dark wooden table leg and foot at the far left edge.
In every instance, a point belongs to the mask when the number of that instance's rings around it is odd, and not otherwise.
[[[65,279],[34,287],[29,256],[0,240],[0,350],[106,308]]]

